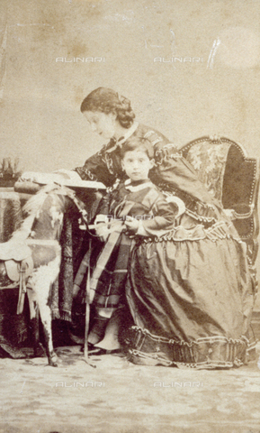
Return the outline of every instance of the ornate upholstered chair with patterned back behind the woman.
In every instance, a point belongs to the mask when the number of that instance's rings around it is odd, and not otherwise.
[[[248,158],[241,145],[216,136],[193,140],[181,151],[212,196],[220,200],[241,239],[247,243],[247,256],[256,282],[259,159]]]

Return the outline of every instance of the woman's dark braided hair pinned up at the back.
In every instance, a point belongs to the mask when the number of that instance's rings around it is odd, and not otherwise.
[[[135,118],[130,100],[127,97],[121,97],[112,88],[95,88],[85,97],[80,110],[82,113],[85,111],[101,111],[106,115],[113,113],[117,115],[117,120],[124,128],[130,128]]]

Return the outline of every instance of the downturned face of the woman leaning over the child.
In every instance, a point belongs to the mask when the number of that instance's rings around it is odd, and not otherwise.
[[[112,113],[106,115],[101,111],[85,111],[83,115],[85,115],[93,133],[99,134],[107,140],[114,136],[117,122],[116,115]]]

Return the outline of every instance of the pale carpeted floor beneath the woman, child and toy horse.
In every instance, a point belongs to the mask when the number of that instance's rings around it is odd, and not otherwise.
[[[0,359],[2,433],[259,433],[260,371],[191,371],[92,356]],[[258,352],[260,347],[257,348]]]

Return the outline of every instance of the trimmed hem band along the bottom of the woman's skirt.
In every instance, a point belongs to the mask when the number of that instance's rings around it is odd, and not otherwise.
[[[130,328],[128,359],[133,364],[164,365],[178,368],[234,368],[246,361],[248,340],[207,336],[191,342],[155,336],[148,329]]]

